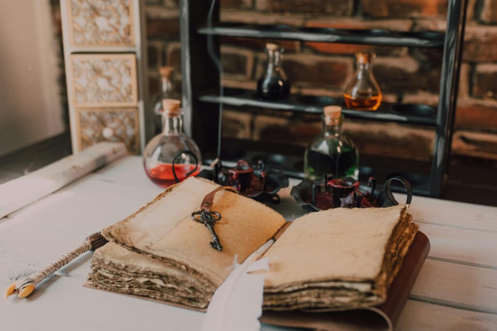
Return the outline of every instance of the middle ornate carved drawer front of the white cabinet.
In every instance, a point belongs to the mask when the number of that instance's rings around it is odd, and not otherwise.
[[[75,107],[131,107],[138,102],[134,54],[71,54]]]

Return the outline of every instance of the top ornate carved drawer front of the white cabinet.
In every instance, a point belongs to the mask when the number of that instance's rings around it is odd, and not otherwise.
[[[132,0],[66,0],[71,46],[134,46]]]

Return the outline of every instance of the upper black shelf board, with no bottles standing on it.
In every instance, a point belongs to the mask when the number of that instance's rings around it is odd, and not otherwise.
[[[200,34],[217,36],[287,39],[318,43],[340,43],[378,46],[443,48],[445,34],[441,32],[404,32],[382,29],[335,29],[318,27],[294,27],[290,25],[262,25],[241,23],[218,23],[212,27],[200,27]]]

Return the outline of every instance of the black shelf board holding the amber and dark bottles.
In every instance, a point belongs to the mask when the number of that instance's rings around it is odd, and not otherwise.
[[[307,114],[323,114],[323,107],[328,105],[344,106],[341,98],[291,95],[286,100],[267,101],[258,98],[254,91],[232,88],[225,88],[223,97],[220,97],[219,94],[204,94],[199,97],[199,100],[207,103],[222,101],[225,105],[237,107],[248,106]],[[342,113],[345,117],[353,119],[436,126],[436,108],[426,105],[384,102],[377,111],[358,111],[344,108]]]

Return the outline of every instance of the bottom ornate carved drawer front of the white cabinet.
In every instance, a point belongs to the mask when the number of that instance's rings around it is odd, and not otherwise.
[[[76,114],[80,150],[100,141],[120,141],[131,153],[140,152],[137,108],[77,108]]]

